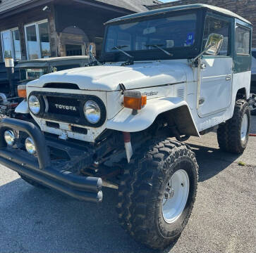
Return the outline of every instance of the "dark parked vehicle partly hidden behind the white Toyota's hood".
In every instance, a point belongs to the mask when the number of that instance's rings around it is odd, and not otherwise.
[[[4,90],[0,93],[0,115],[8,117],[16,117],[15,109],[23,100],[24,94],[18,93],[17,86],[22,88],[28,82],[38,79],[43,74],[57,72],[60,70],[68,70],[75,67],[85,67],[90,64],[90,56],[66,56],[54,58],[42,58],[33,60],[20,60],[16,65],[19,71],[19,81],[16,81],[15,92],[10,96],[8,80],[4,85]],[[17,72],[17,71],[16,71]],[[16,74],[17,75],[17,74]]]

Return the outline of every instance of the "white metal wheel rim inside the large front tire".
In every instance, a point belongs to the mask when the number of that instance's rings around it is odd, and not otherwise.
[[[167,223],[173,223],[181,216],[188,200],[189,179],[185,170],[179,169],[167,183],[162,200],[162,214]]]

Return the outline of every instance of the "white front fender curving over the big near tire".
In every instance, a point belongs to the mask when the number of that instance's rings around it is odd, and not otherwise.
[[[186,125],[187,129],[188,125],[190,126],[189,133],[184,132],[182,134],[200,136],[193,120],[193,116],[188,108],[188,103],[186,103],[185,100],[176,97],[153,98],[147,100],[147,105],[145,108],[142,108],[142,110],[139,110],[137,115],[132,115],[131,109],[123,108],[113,119],[109,119],[106,122],[106,128],[126,132],[142,131],[151,126],[157,116],[161,113],[170,112],[177,108],[185,108],[188,117],[186,117],[185,120],[183,119],[181,124],[184,124],[184,126]],[[183,127],[183,129],[185,129],[185,127]]]

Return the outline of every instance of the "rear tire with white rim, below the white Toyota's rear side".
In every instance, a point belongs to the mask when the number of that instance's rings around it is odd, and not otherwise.
[[[250,131],[250,108],[246,100],[236,101],[233,117],[220,124],[217,130],[221,150],[241,154],[248,144]]]

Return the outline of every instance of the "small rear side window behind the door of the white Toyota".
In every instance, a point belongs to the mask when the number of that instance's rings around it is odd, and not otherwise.
[[[237,55],[249,55],[250,54],[250,30],[236,26],[236,54]]]

